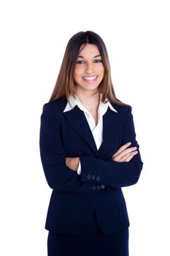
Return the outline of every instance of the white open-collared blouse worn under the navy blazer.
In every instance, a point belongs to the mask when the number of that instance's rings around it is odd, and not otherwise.
[[[100,95],[100,99],[102,97],[102,94]],[[72,105],[72,107],[69,105]],[[115,110],[115,108],[112,107],[112,105],[110,104],[110,102],[107,103],[103,103],[100,100],[100,104],[98,105],[98,124],[95,124],[95,120],[93,118],[93,116],[91,115],[91,113],[82,105],[82,103],[80,102],[80,99],[74,98],[72,95],[70,95],[69,97],[69,102],[67,102],[66,108],[63,110],[63,112],[72,110],[72,108],[74,108],[76,105],[78,106],[78,108],[80,108],[80,110],[82,110],[85,113],[85,117],[87,118],[90,130],[93,134],[93,138],[95,140],[96,143],[96,148],[100,148],[101,143],[103,142],[103,116],[104,114],[107,112],[107,108],[109,107],[112,111],[117,112],[117,110]],[[77,169],[77,173],[81,174],[81,165],[79,164],[79,167]]]

